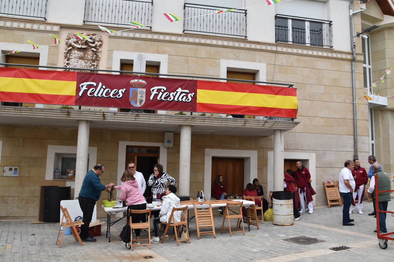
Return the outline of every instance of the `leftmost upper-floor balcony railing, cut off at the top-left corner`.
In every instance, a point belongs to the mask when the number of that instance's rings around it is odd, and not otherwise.
[[[0,0],[0,14],[44,18],[48,0]]]

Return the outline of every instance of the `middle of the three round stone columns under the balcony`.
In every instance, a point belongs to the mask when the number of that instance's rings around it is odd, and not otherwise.
[[[180,196],[190,196],[191,126],[180,126],[179,183]]]

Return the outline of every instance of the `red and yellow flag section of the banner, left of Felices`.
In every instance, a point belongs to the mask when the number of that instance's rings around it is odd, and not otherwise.
[[[38,104],[75,103],[76,72],[0,69],[0,101]]]

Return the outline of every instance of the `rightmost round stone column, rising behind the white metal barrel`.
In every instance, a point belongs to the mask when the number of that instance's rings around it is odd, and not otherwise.
[[[283,191],[284,135],[283,130],[273,134],[273,191]]]

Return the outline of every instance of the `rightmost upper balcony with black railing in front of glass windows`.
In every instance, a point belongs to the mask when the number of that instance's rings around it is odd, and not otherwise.
[[[333,21],[275,15],[275,42],[333,47]]]

